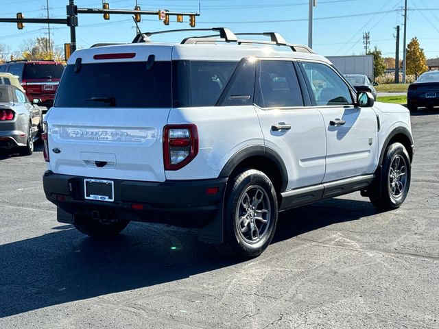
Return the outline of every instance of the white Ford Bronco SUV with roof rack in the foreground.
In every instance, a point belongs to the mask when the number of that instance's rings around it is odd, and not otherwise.
[[[46,116],[43,183],[58,221],[111,236],[129,221],[200,228],[242,258],[278,212],[361,191],[382,210],[410,186],[410,114],[374,103],[311,49],[139,35],[75,51]]]

